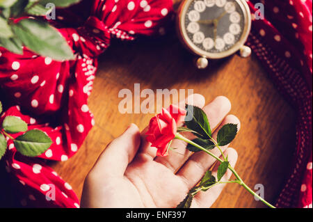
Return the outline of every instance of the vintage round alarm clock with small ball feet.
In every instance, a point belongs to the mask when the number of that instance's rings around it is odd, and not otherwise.
[[[179,39],[200,56],[196,65],[207,68],[208,60],[220,59],[240,51],[248,57],[244,45],[251,29],[251,14],[245,0],[185,0],[177,16]]]

